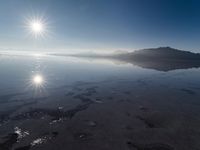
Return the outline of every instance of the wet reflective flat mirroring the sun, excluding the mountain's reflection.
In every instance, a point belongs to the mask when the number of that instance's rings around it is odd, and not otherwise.
[[[200,69],[0,56],[0,150],[198,150]]]

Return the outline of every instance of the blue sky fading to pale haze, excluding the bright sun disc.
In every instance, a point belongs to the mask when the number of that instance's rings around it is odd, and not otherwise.
[[[200,52],[199,0],[0,0],[1,50],[134,50],[171,46]],[[27,18],[48,33],[28,34]]]

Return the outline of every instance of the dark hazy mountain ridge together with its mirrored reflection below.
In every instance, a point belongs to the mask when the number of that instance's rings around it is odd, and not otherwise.
[[[113,54],[74,54],[74,57],[117,59],[143,68],[170,71],[200,67],[200,54],[171,47],[141,49]]]

